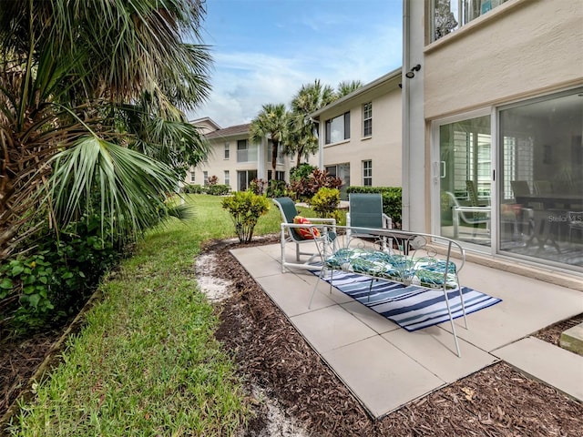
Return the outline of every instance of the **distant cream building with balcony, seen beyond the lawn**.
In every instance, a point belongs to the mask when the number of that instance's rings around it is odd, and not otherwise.
[[[190,168],[187,184],[207,185],[209,178],[217,177],[219,184],[233,191],[244,191],[255,178],[271,179],[271,142],[251,143],[249,124],[221,128],[209,117],[190,123],[199,127],[210,143],[210,156],[196,168]],[[291,159],[278,153],[275,179],[290,179]]]

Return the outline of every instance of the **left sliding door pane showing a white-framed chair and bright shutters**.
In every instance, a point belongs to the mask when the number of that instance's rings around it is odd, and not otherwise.
[[[490,116],[439,127],[440,232],[491,245],[492,143]]]

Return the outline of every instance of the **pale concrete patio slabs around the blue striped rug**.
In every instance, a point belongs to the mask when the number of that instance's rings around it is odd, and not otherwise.
[[[583,357],[530,336],[583,312],[581,291],[466,263],[462,284],[502,302],[468,315],[468,330],[455,320],[458,358],[449,322],[408,332],[323,281],[308,309],[318,279],[282,273],[279,244],[231,253],[373,417],[500,360],[583,401]]]

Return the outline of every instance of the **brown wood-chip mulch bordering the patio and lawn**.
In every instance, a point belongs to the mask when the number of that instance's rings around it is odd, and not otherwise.
[[[251,245],[278,241],[272,236],[255,239]],[[240,247],[232,241],[211,241],[204,251],[220,260],[214,271],[206,273],[232,281],[232,296],[217,304],[216,335],[248,384],[255,415],[244,436],[272,435],[266,433],[270,418],[265,402],[254,398],[253,387],[261,387],[314,436],[581,435],[583,405],[503,362],[374,421],[230,255],[230,249]],[[581,321],[583,315],[536,335],[557,344],[562,330]],[[62,331],[18,344],[0,343],[0,417],[26,388]]]

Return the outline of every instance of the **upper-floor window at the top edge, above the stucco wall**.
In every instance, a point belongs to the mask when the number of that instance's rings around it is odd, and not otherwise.
[[[505,2],[506,0],[434,0],[434,41]]]

